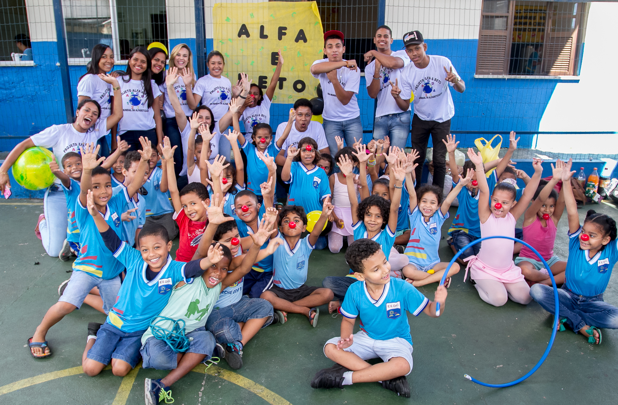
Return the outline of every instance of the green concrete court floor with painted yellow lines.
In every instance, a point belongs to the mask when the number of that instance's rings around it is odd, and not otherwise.
[[[593,208],[618,217],[615,207],[601,204]],[[586,209],[580,209],[582,219]],[[87,322],[104,321],[103,314],[88,306],[51,328],[47,337],[52,357],[37,361],[24,347],[45,311],[57,301],[57,287],[69,278],[71,269],[70,262],[47,256],[35,238],[33,228],[42,211],[40,200],[0,203],[0,403],[142,404],[144,378],[160,378],[165,372],[138,369],[125,378],[115,377],[111,370],[94,378],[81,374],[78,367]],[[451,217],[454,212],[451,209]],[[446,221],[443,235],[450,223]],[[565,258],[566,215],[559,228],[556,254]],[[444,241],[440,254],[445,261],[452,257]],[[343,253],[315,251],[308,284],[321,285],[325,276],[344,275],[346,269]],[[491,383],[509,382],[525,374],[546,348],[552,317],[535,302],[489,306],[463,277],[463,272],[454,277],[442,317],[408,315],[414,342],[410,399],[398,398],[378,383],[345,390],[310,387],[315,372],[332,365],[322,348],[326,340],[339,336],[341,324],[341,315],[331,317],[321,307],[315,329],[306,317],[290,315],[285,325],[258,333],[245,346],[245,365],[235,374],[225,362],[220,367],[226,371],[219,370],[218,375],[191,372],[172,386],[174,404],[618,403],[618,332],[614,330],[603,330],[600,346],[588,344],[570,330],[559,333],[547,361],[519,385],[496,389],[466,380],[465,373]],[[617,277],[614,273],[605,295],[614,305],[618,304]],[[435,289],[436,285],[430,285],[420,291],[433,299]]]

